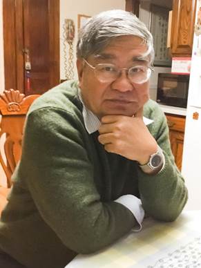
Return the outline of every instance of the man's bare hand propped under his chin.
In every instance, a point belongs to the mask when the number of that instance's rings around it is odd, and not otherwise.
[[[140,164],[146,164],[157,151],[157,142],[142,119],[142,109],[135,117],[106,115],[102,117],[98,140],[104,149]]]

